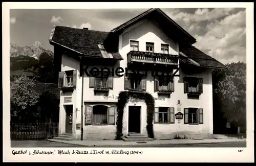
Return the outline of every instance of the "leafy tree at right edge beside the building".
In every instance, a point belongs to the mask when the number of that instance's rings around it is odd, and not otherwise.
[[[227,70],[218,76],[214,92],[217,94],[225,118],[234,126],[246,126],[246,64],[226,64]]]

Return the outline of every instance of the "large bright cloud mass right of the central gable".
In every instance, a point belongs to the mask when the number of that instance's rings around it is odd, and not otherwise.
[[[245,11],[213,21],[205,27],[207,32],[197,36],[197,48],[223,63],[246,61]]]

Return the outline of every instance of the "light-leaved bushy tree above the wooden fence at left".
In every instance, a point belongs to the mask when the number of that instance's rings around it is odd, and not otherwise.
[[[38,102],[39,94],[33,88],[35,80],[22,75],[14,79],[11,83],[11,114],[22,118],[29,118],[36,112],[31,108]],[[15,111],[15,112],[14,112]]]

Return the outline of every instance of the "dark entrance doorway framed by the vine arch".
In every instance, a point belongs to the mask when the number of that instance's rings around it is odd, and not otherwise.
[[[140,106],[129,106],[128,132],[140,133]]]

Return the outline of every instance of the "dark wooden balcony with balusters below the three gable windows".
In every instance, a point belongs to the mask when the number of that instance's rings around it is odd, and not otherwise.
[[[130,51],[127,54],[127,65],[134,62],[142,64],[178,66],[178,55]]]

